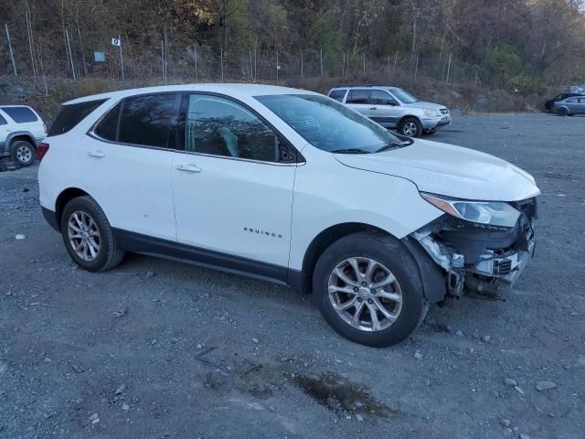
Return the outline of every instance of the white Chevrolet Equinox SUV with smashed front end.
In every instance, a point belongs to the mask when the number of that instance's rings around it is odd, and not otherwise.
[[[534,249],[539,190],[526,172],[390,134],[310,91],[81,98],[38,153],[43,213],[82,268],[141,252],[287,284],[370,346],[408,337],[464,287],[505,294]]]

